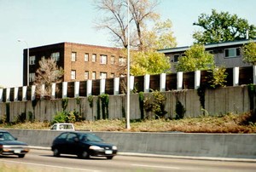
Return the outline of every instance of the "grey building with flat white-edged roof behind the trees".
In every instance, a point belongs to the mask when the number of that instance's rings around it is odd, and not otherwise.
[[[214,55],[215,65],[224,67],[235,67],[235,66],[250,66],[242,61],[241,48],[247,43],[256,43],[256,39],[253,40],[242,40],[225,43],[211,43],[206,44],[205,49]],[[166,54],[171,60],[172,72],[176,71],[176,64],[178,58],[182,58],[185,51],[189,47],[178,47],[172,49],[160,49],[158,52]]]

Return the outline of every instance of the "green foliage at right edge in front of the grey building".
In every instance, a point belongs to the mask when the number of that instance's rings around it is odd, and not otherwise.
[[[256,43],[248,43],[242,48],[243,61],[256,65]]]

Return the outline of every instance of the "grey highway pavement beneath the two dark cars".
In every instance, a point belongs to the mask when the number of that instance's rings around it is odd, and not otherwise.
[[[46,150],[34,150],[25,158],[0,156],[0,171],[28,172],[108,172],[108,171],[255,171],[256,163],[195,160],[183,158],[152,158],[117,155],[112,160],[107,158],[79,159],[76,156],[52,156]]]

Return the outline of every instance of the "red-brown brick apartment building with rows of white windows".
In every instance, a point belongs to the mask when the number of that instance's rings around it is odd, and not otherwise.
[[[63,81],[83,81],[119,77],[126,65],[123,50],[80,43],[55,43],[29,49],[23,54],[23,85],[27,83],[27,66],[29,66],[29,83],[35,79],[42,58],[55,59],[57,66],[64,70]]]

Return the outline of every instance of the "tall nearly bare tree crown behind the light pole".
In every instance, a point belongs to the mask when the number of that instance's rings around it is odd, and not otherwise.
[[[122,45],[127,43],[128,22],[131,31],[131,47],[143,49],[143,30],[149,20],[156,20],[159,14],[154,12],[158,0],[129,0],[131,19],[127,19],[128,0],[96,0],[96,9],[104,14],[97,24],[98,29],[108,29],[113,36],[113,42]]]

